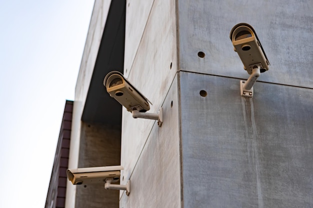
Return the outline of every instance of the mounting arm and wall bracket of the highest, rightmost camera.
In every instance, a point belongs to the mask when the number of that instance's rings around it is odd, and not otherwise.
[[[253,84],[260,76],[261,63],[250,65],[252,73],[246,81],[240,80],[240,95],[243,97],[253,97]]]

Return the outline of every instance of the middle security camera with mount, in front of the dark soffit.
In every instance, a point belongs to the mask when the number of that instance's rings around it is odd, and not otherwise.
[[[145,113],[150,110],[149,103],[151,104],[151,102],[120,72],[111,71],[106,74],[103,85],[111,97],[132,113],[133,118],[153,119],[157,120],[159,127],[162,125],[162,108],[158,113]]]

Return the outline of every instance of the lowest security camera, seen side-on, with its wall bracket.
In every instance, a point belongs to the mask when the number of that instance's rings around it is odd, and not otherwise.
[[[66,176],[73,185],[103,183],[105,189],[125,190],[128,196],[129,180],[126,185],[111,184],[119,182],[121,170],[123,170],[122,166],[67,169]]]

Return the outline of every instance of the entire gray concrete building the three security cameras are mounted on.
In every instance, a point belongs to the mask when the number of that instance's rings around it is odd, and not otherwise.
[[[121,165],[120,184],[67,181],[65,208],[313,207],[313,2],[95,0],[75,88],[68,168]],[[270,62],[249,75],[229,39],[253,26]],[[163,111],[134,119],[117,70]]]

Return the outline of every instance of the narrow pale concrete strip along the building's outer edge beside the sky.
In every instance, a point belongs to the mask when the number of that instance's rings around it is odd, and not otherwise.
[[[77,168],[80,141],[80,118],[86,100],[88,87],[95,64],[97,51],[100,45],[104,23],[110,6],[110,0],[95,0],[86,38],[86,43],[81,59],[79,74],[75,88],[75,101],[73,104],[72,126],[70,135],[69,168]],[[67,181],[66,185],[66,208],[75,207],[76,187]]]

